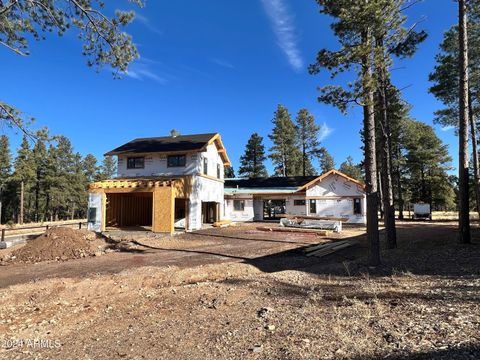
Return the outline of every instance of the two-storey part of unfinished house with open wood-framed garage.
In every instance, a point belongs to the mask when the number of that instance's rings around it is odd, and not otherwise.
[[[89,229],[172,233],[224,218],[230,160],[219,134],[140,138],[105,155],[117,156],[117,177],[90,185]]]

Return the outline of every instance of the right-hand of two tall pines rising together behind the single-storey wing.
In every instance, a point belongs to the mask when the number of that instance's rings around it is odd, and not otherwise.
[[[301,174],[303,176],[315,175],[312,165],[313,156],[318,154],[318,132],[320,126],[315,124],[315,118],[307,109],[301,109],[296,118],[298,142],[301,154]]]

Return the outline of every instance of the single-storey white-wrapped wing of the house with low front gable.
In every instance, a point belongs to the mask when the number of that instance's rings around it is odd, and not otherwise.
[[[321,176],[225,180],[225,217],[274,220],[284,214],[347,218],[366,223],[365,185],[331,170]]]

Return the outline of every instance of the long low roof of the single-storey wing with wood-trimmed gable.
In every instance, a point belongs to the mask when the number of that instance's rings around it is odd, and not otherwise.
[[[243,193],[295,193],[308,189],[310,186],[322,181],[331,175],[338,175],[344,179],[351,181],[362,188],[365,185],[344,173],[337,170],[327,171],[320,176],[287,176],[287,177],[269,177],[269,178],[238,178],[225,179],[226,192],[243,192]]]

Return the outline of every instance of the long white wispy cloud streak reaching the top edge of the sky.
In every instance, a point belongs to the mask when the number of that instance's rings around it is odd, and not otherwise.
[[[284,0],[262,0],[263,7],[277,37],[278,46],[287,56],[295,71],[303,68],[303,59],[298,49],[295,24]]]

